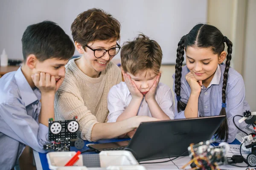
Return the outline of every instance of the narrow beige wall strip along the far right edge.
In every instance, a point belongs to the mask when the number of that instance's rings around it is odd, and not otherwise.
[[[246,99],[256,111],[256,0],[248,0],[243,77]]]

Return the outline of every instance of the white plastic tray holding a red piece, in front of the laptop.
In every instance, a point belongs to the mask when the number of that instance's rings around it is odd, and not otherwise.
[[[145,167],[139,165],[131,152],[127,150],[101,151],[99,160],[101,167],[83,166],[82,155],[72,167],[64,165],[76,154],[76,152],[49,152],[47,161],[50,170],[145,170]]]

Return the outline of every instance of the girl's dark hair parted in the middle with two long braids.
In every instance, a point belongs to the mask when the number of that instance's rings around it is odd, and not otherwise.
[[[225,71],[223,74],[223,85],[222,85],[222,108],[220,115],[226,115],[226,89],[227,89],[227,74],[230,67],[231,53],[232,53],[232,42],[218,30],[215,26],[210,26],[207,24],[198,24],[192,28],[189,34],[186,34],[180,39],[177,48],[177,59],[175,65],[175,93],[177,99],[180,98],[180,86],[181,86],[181,71],[182,71],[182,62],[184,61],[184,48],[189,46],[196,46],[198,48],[210,48],[213,54],[220,55],[224,51],[224,42],[227,44],[227,61],[225,66]],[[221,104],[221,103],[220,103]],[[177,101],[177,110],[178,112],[184,111],[186,104],[183,103],[180,99]],[[228,125],[227,117],[222,122],[218,130],[216,131],[216,136],[219,139],[228,138]]]

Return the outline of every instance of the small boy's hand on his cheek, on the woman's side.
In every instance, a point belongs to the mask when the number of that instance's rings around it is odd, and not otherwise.
[[[133,99],[143,99],[143,94],[136,87],[135,83],[131,80],[131,77],[128,74],[124,74],[125,83],[131,93]]]

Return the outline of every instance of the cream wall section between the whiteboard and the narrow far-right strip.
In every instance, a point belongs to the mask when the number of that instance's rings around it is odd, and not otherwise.
[[[231,67],[243,70],[247,0],[209,0],[207,22],[220,29],[233,43]]]

